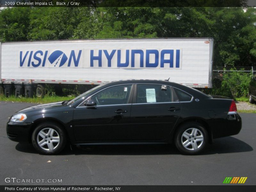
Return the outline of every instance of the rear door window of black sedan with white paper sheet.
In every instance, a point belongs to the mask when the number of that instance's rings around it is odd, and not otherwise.
[[[169,86],[162,90],[162,85],[138,84],[136,103],[172,102],[172,91]]]

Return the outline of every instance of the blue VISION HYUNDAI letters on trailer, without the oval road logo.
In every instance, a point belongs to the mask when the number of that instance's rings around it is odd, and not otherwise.
[[[94,67],[93,62],[95,60],[96,61],[98,60],[98,67],[102,67],[102,50],[98,50],[98,55],[93,55],[94,51],[95,50],[90,50],[90,66]],[[173,63],[174,62],[174,50],[173,49],[162,50],[160,53],[160,58],[159,58],[158,50],[145,50],[146,51],[145,65],[144,65],[144,51],[143,50],[141,50],[141,49],[128,50],[127,49],[127,50],[125,50],[125,62],[124,63],[121,62],[121,50],[117,50],[117,68],[129,67],[130,51],[131,51],[131,67],[132,68],[135,68],[135,62],[137,62],[136,65],[139,64],[138,62],[140,62],[140,68],[143,68],[143,67],[156,68],[156,67],[158,67],[159,62],[160,62],[160,68],[164,68],[165,64],[168,64],[168,66],[170,68],[174,67],[173,66],[174,65],[174,63]],[[106,59],[108,60],[108,67],[110,68],[112,65],[111,61],[113,60],[113,57],[116,53],[116,49],[111,50],[110,53],[108,52],[108,50],[103,50],[103,52],[106,56]],[[44,67],[46,60],[47,60],[47,54],[48,54],[48,51],[43,52],[41,50],[38,50],[35,53],[33,51],[26,51],[26,53],[23,55],[23,52],[20,51],[20,67],[23,67],[24,62],[26,61],[27,57],[28,57],[28,67],[30,67],[30,65],[31,65],[31,67],[39,67],[41,64],[42,64],[42,67]],[[140,59],[135,61],[135,54],[139,54]],[[154,56],[155,56],[155,60],[153,59],[152,63],[150,63],[150,60],[149,60],[150,56],[151,56],[150,54],[154,54]],[[166,56],[166,54],[168,55],[168,57]],[[69,59],[64,54],[64,56],[66,57],[66,60],[68,59],[67,67],[71,66],[71,62],[74,62],[75,67],[78,67],[79,61],[81,59],[81,55],[82,55],[82,50],[79,50],[77,55],[75,53],[75,50],[71,50]],[[33,56],[34,60],[31,62],[32,56]],[[164,59],[164,56],[166,56],[167,59]],[[175,67],[180,68],[180,50],[179,49],[176,50],[175,57],[176,57]]]

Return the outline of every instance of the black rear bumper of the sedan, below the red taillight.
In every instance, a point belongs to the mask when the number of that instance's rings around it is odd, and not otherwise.
[[[242,119],[238,114],[227,115],[218,127],[212,127],[212,138],[227,137],[237,135],[242,128]]]

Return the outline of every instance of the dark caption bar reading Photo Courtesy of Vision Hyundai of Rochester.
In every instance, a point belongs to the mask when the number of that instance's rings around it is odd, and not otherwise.
[[[115,192],[180,192],[180,191],[189,191],[189,192],[198,192],[198,191],[207,191],[207,192],[241,192],[241,191],[255,191],[255,186],[250,185],[222,185],[222,186],[127,186],[127,185],[113,185],[113,186],[92,186],[92,185],[78,185],[78,186],[70,186],[70,185],[63,185],[63,186],[36,186],[36,185],[15,185],[15,186],[1,186],[1,192],[63,192],[63,191],[70,191],[70,192],[95,192],[95,191],[115,191]]]

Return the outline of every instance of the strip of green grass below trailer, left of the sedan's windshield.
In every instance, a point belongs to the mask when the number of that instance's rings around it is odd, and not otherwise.
[[[75,97],[59,97],[59,96],[45,96],[43,99],[40,97],[26,98],[26,97],[5,97],[0,95],[0,101],[13,101],[13,102],[25,102],[25,103],[52,103],[64,100],[71,100]]]

